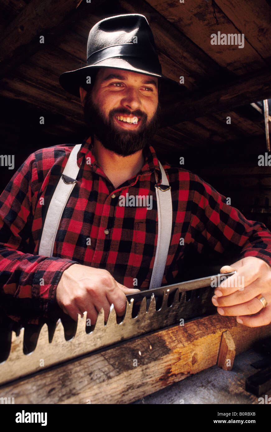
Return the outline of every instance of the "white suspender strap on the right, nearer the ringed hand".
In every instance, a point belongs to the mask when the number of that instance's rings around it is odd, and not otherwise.
[[[157,184],[155,185],[158,211],[158,238],[149,289],[161,286],[169,252],[172,229],[171,187],[169,186],[165,170],[160,162],[159,166],[162,173],[162,181],[159,186],[157,186]],[[156,173],[155,178],[157,183],[158,178]]]

